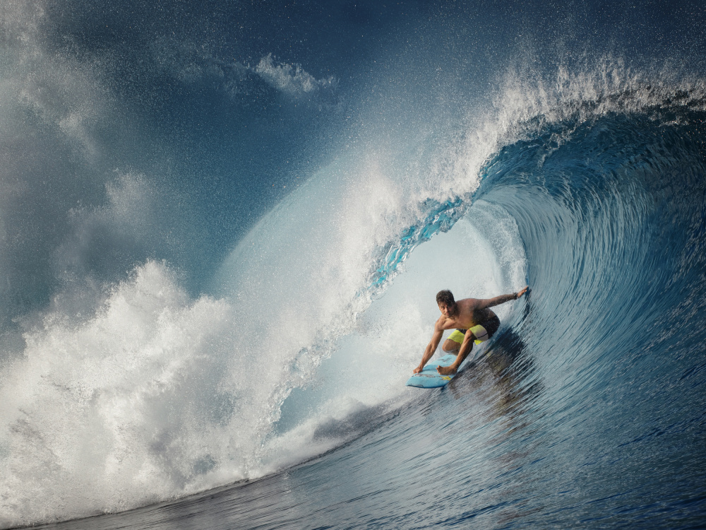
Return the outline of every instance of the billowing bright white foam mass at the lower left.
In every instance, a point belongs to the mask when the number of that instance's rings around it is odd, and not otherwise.
[[[198,389],[222,371],[227,310],[148,262],[90,321],[51,312],[26,333],[0,389],[2,524],[169,497],[208,465],[213,393]]]

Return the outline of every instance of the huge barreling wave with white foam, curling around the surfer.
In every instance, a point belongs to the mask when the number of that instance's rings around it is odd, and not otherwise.
[[[702,408],[690,382],[706,338],[704,89],[587,71],[508,76],[431,175],[369,158],[326,167],[242,238],[208,295],[148,260],[88,320],[49,309],[30,322],[0,389],[0,524],[256,478],[416,411],[403,384],[447,286],[484,297],[530,284],[498,312],[523,344],[505,370],[542,382],[554,414],[542,440],[581,401],[606,402],[610,418],[618,398],[644,410],[645,385]],[[357,374],[379,359],[365,387]]]

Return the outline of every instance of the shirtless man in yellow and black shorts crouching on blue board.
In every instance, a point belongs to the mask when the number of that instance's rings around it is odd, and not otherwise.
[[[500,295],[486,300],[464,298],[456,302],[450,290],[440,290],[436,294],[436,303],[441,311],[441,317],[434,325],[434,334],[431,336],[429,345],[426,346],[421,363],[414,368],[414,373],[421,372],[424,365],[429,362],[441,342],[443,331],[455,328],[456,331],[449,335],[441,348],[447,353],[457,351],[456,360],[448,367],[436,367],[436,371],[441,375],[455,374],[463,360],[471,353],[473,341],[476,341],[477,344],[487,341],[498,331],[500,319],[489,308],[504,304],[509,300],[517,300],[526,292],[527,287],[511,295]]]

